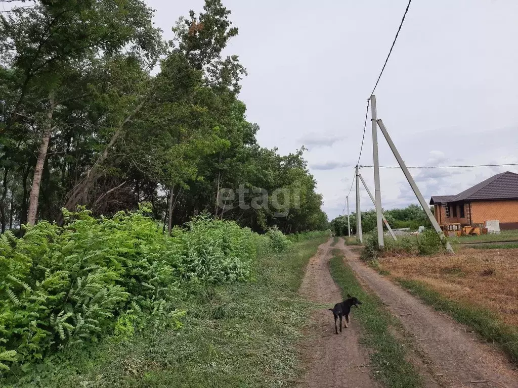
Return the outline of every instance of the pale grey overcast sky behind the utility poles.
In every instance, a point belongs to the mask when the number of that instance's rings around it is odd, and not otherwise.
[[[148,0],[171,26],[203,0]],[[239,27],[227,54],[248,70],[240,99],[262,146],[305,145],[324,211],[342,214],[365,106],[407,0],[223,0]],[[518,162],[518,2],[414,0],[378,85],[382,118],[409,166]],[[369,112],[370,118],[370,112]],[[381,132],[381,165],[397,162]],[[372,165],[370,120],[361,165]],[[508,168],[412,170],[424,197],[454,195]],[[361,170],[373,190],[371,168]],[[384,208],[416,203],[399,169],[381,170]],[[349,198],[351,211],[354,187]],[[372,208],[365,190],[362,210]]]

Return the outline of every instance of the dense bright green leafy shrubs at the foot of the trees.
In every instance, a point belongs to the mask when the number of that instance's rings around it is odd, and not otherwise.
[[[178,329],[179,298],[249,279],[254,244],[267,238],[205,215],[169,236],[146,211],[101,219],[64,211],[63,227],[42,221],[22,238],[0,236],[0,371],[149,324]],[[270,233],[275,247],[287,241],[279,233]]]

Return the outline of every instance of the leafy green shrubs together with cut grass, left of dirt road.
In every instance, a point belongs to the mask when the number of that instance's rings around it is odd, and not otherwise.
[[[213,386],[238,386],[262,355],[272,378],[295,373],[282,348],[303,324],[295,291],[328,233],[291,242],[200,216],[168,236],[147,211],[67,213],[64,227],[2,235],[2,386],[195,386],[214,371]],[[287,364],[270,357],[281,348]]]

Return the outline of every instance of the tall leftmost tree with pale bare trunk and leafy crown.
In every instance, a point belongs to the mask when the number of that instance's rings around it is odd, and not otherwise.
[[[11,101],[8,126],[20,114],[39,116],[37,130],[41,140],[28,223],[34,224],[37,219],[41,176],[50,138],[57,128],[53,114],[65,100],[60,90],[68,84],[67,76],[74,69],[88,66],[100,53],[146,49],[146,56],[150,57],[158,36],[151,16],[151,10],[140,0],[37,1],[34,7],[20,7],[0,16],[3,63],[16,70],[19,80],[18,98]],[[36,96],[35,106],[25,104],[27,94]],[[76,94],[67,98],[80,97]],[[44,112],[39,107],[44,107]]]

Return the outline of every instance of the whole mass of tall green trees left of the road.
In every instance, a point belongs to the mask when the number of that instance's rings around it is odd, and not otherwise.
[[[143,0],[33,3],[0,14],[2,231],[141,202],[169,228],[204,212],[255,231],[327,227],[304,148],[257,143],[238,98],[246,70],[222,55],[238,28],[220,0],[180,18],[171,41]]]

